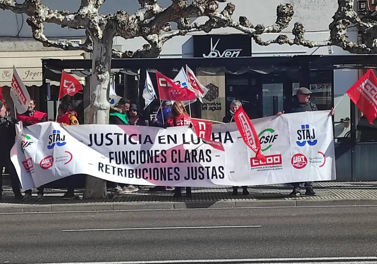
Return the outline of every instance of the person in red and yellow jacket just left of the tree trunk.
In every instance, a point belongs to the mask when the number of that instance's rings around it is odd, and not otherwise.
[[[58,107],[58,119],[57,122],[61,126],[78,125],[77,112],[73,110],[73,107],[68,102],[63,102]],[[75,198],[75,175],[66,177],[67,192],[61,197],[61,199],[69,200]]]

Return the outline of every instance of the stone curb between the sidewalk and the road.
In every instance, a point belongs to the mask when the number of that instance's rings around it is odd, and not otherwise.
[[[31,212],[78,212],[78,211],[124,211],[124,210],[174,210],[215,208],[263,208],[263,207],[310,207],[310,206],[368,206],[377,205],[377,199],[332,200],[270,200],[270,201],[214,201],[214,202],[109,202],[76,204],[16,204],[1,206],[0,213]]]

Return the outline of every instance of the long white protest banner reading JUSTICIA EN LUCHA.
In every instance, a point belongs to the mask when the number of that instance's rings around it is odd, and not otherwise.
[[[214,124],[203,143],[189,127],[46,122],[20,130],[11,157],[24,189],[72,174],[135,185],[243,186],[335,180],[329,111],[253,120],[267,161],[256,160],[235,123]]]

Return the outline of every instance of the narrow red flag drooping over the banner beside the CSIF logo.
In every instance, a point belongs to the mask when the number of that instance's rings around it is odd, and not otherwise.
[[[236,121],[239,133],[246,145],[255,152],[255,158],[266,161],[266,158],[261,152],[261,142],[259,141],[258,134],[242,106],[234,113],[234,121]]]

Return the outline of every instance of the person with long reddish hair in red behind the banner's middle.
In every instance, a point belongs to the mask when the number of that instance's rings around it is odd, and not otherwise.
[[[190,126],[191,119],[182,102],[176,101],[172,107],[172,116],[166,120],[167,127]],[[181,197],[182,187],[175,187],[174,197]],[[186,196],[191,197],[191,187],[186,187]]]

